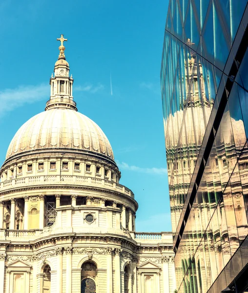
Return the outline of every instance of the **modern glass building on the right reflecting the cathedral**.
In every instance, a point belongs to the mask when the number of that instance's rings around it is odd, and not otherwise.
[[[248,1],[170,0],[161,91],[178,293],[248,289]]]

